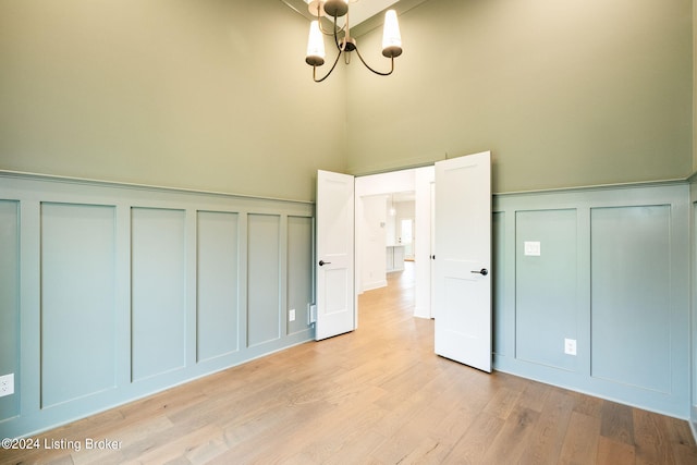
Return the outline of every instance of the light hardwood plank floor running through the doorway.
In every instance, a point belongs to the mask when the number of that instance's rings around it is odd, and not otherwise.
[[[686,421],[433,355],[413,274],[360,297],[359,329],[51,430],[53,464],[697,464]],[[85,450],[86,438],[120,441]]]

